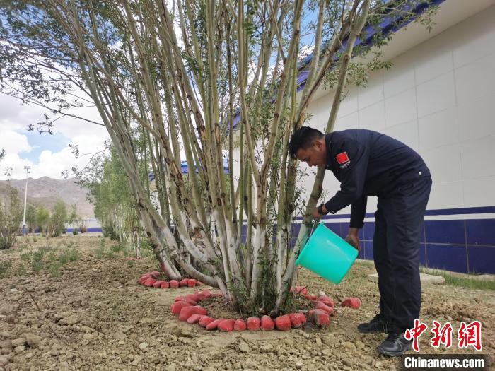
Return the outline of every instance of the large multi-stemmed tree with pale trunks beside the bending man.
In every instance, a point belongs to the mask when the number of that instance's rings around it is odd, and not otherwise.
[[[280,312],[301,247],[289,249],[298,203],[289,137],[323,84],[334,90],[331,131],[348,80],[365,83],[368,71],[387,66],[371,50],[388,40],[380,22],[400,27],[424,2],[8,1],[0,10],[2,90],[50,107],[40,131],[71,105],[93,103],[161,269],[219,287],[243,312]],[[313,57],[299,63],[306,46]],[[351,64],[356,54],[366,62]],[[319,171],[298,241],[322,177]]]

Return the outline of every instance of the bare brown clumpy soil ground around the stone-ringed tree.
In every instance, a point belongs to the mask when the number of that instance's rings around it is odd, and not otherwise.
[[[74,242],[78,261],[65,264],[59,277],[42,269],[16,269],[21,251],[61,249]],[[110,242],[106,242],[107,246]],[[38,239],[29,247],[0,252],[12,261],[0,279],[0,370],[398,370],[400,360],[378,355],[385,334],[359,334],[356,325],[378,308],[378,288],[366,279],[373,266],[355,264],[340,285],[305,270],[298,284],[310,293],[324,290],[335,302],[356,296],[359,310],[337,307],[329,329],[207,332],[178,322],[170,314],[177,295],[194,288],[151,289],[137,285],[156,269],[151,258],[129,263],[122,254],[97,259],[100,237]],[[21,251],[19,251],[21,250]],[[202,289],[204,286],[202,287]],[[460,321],[482,322],[484,354],[495,352],[495,293],[447,285],[425,285],[421,321],[428,333],[421,353],[477,353],[457,346]],[[432,324],[451,322],[453,346],[429,345]]]

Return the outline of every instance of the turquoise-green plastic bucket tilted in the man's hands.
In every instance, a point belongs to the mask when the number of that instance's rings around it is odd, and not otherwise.
[[[357,256],[358,250],[321,223],[303,246],[296,266],[304,266],[337,284],[351,269]]]

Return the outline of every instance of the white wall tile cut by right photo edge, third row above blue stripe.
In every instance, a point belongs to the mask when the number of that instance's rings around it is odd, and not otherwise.
[[[463,141],[495,134],[495,94],[459,105],[457,117]]]

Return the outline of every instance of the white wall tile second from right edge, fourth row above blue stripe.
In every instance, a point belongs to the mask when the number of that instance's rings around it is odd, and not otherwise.
[[[417,86],[418,117],[445,110],[455,104],[452,72],[433,78]]]

